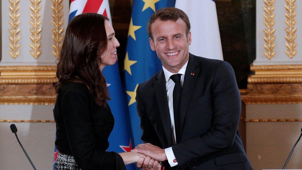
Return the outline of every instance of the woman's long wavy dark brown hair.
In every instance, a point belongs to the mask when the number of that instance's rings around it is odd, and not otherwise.
[[[85,84],[97,105],[104,106],[109,98],[104,76],[99,66],[106,53],[105,20],[96,13],[75,16],[68,24],[58,59],[56,93],[67,82]]]

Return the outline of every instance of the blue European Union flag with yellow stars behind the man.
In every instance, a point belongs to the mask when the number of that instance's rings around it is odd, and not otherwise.
[[[137,86],[162,69],[162,63],[149,45],[147,23],[150,16],[164,7],[174,7],[175,0],[133,0],[126,55],[124,60],[125,88],[135,145],[140,139],[140,118],[136,112]]]

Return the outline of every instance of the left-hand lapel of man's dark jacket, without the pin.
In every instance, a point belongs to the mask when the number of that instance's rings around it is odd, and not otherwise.
[[[168,146],[172,146],[171,119],[166,92],[166,80],[163,70],[158,73],[157,78],[157,81],[154,81],[154,91],[156,94],[162,125],[166,133]]]

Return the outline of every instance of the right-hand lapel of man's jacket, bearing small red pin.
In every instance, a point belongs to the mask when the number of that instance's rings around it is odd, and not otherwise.
[[[180,124],[182,125],[182,127],[183,127],[184,118],[186,117],[186,113],[188,110],[191,94],[200,70],[200,68],[197,67],[198,65],[199,64],[196,59],[196,56],[190,54],[184,80],[183,80],[183,88],[182,88],[181,99],[180,99]]]

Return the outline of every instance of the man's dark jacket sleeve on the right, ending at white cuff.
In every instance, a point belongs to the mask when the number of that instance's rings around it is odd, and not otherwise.
[[[218,64],[212,85],[213,115],[211,128],[201,136],[172,146],[181,169],[189,162],[216,154],[233,145],[238,129],[241,99],[231,65]]]

